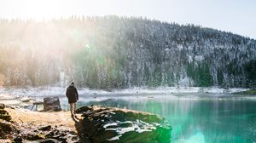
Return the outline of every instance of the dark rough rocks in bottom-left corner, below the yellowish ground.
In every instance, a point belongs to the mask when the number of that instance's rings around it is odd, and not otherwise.
[[[0,142],[79,143],[79,136],[72,130],[50,124],[16,123],[4,108],[0,104]]]

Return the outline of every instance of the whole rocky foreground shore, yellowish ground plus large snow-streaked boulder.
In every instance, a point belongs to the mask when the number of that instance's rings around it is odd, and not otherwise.
[[[0,142],[170,142],[164,118],[106,106],[70,112],[32,112],[0,105]]]

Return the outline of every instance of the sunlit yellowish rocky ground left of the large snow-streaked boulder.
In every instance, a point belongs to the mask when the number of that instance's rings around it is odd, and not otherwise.
[[[0,105],[0,142],[79,142],[69,112],[32,112]]]

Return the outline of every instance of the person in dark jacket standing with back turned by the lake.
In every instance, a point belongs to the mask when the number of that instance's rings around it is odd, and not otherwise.
[[[76,102],[79,100],[79,93],[74,83],[71,83],[67,88],[67,99],[70,106],[71,117],[74,116],[74,111],[76,110]]]

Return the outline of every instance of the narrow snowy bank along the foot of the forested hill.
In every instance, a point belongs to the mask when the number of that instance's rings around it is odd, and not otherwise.
[[[113,89],[112,91],[98,89],[79,89],[79,94],[177,94],[177,93],[211,93],[211,94],[232,94],[246,91],[247,89],[220,89],[216,87],[199,88],[199,87],[160,87],[154,89],[131,88],[131,89]],[[66,88],[47,87],[47,88],[0,88],[0,94],[11,94],[17,96],[52,96],[65,95]]]

